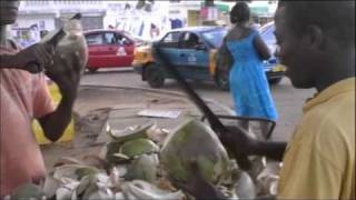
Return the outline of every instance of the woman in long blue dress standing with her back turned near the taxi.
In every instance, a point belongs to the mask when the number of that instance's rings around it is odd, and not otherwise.
[[[270,57],[268,47],[257,30],[249,27],[247,3],[237,2],[230,12],[234,28],[225,38],[225,46],[233,57],[229,73],[230,91],[237,116],[277,120],[277,111],[264,71],[263,60]],[[248,129],[248,122],[241,126]],[[261,124],[265,133],[267,126]]]

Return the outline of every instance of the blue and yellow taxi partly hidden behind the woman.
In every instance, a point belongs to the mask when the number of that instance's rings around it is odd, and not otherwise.
[[[186,79],[215,81],[224,90],[228,89],[228,76],[217,72],[216,53],[227,29],[222,27],[191,27],[175,29],[156,42]],[[261,34],[264,37],[264,34]],[[160,88],[169,72],[155,60],[151,46],[137,48],[132,62],[136,72],[141,74],[152,88]],[[276,58],[264,62],[267,77],[275,81],[284,76],[284,67]]]

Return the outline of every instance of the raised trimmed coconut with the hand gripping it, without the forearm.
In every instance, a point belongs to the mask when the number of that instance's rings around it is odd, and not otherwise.
[[[56,42],[56,53],[52,64],[47,66],[46,74],[59,87],[62,96],[76,97],[80,76],[88,61],[88,47],[82,34],[80,14],[65,21],[63,36]],[[48,34],[42,43],[52,42],[56,33]]]

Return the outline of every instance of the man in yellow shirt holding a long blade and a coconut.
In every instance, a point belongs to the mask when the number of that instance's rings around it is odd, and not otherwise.
[[[234,152],[283,159],[278,199],[356,199],[354,16],[354,1],[279,1],[276,56],[295,88],[317,94],[305,103],[288,146],[237,128],[221,139]],[[224,199],[192,174],[178,186],[200,199]]]

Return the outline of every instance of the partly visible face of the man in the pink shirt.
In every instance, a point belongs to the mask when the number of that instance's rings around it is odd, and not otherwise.
[[[18,17],[20,1],[1,0],[0,1],[0,26],[12,24]]]

